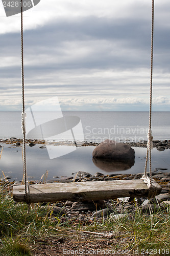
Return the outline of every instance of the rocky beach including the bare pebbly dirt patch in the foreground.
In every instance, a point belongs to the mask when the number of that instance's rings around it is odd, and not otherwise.
[[[9,144],[14,147],[20,147],[22,145],[22,140],[16,138],[10,138],[1,141],[1,145]],[[34,147],[37,144],[45,148],[45,141],[39,140],[27,140],[27,146]],[[75,145],[69,141],[64,142],[50,142],[57,145]],[[127,142],[130,146],[133,147],[147,147],[147,142]],[[80,143],[81,144],[81,143]],[[170,148],[170,141],[153,141],[154,147],[158,151],[166,151]],[[81,146],[97,146],[98,143],[84,142]],[[77,146],[80,146],[77,143]],[[148,174],[148,173],[147,173]],[[102,172],[96,172],[94,175],[89,172],[78,171],[71,173],[70,176],[54,176],[52,180],[44,179],[43,181],[32,180],[30,184],[39,184],[39,183],[57,183],[63,182],[83,182],[90,183],[91,181],[112,181],[112,180],[134,180],[140,179],[143,173],[138,174],[120,174],[116,172],[103,174]],[[149,175],[149,174],[148,174]],[[42,203],[40,206],[33,206],[35,209],[31,211],[40,211],[40,215],[45,218],[48,218],[48,221],[56,225],[58,230],[65,228],[69,225],[71,228],[67,230],[67,234],[63,233],[57,235],[57,237],[51,236],[49,238],[43,237],[38,238],[34,246],[31,246],[31,251],[33,255],[60,255],[63,250],[69,252],[70,248],[72,250],[81,250],[83,248],[94,248],[101,249],[105,248],[107,250],[113,248],[124,248],[128,243],[128,237],[126,238],[126,232],[122,230],[115,231],[120,223],[126,228],[126,225],[133,223],[136,220],[136,216],[140,212],[139,218],[156,218],[160,216],[166,216],[169,205],[170,205],[170,173],[168,168],[163,168],[157,166],[152,170],[152,179],[155,180],[162,188],[160,195],[157,195],[155,198],[148,200],[147,197],[139,198],[117,198],[117,199],[108,199],[102,201],[83,201],[83,202],[73,202],[73,201],[60,201],[54,203]],[[1,177],[0,186],[3,191],[11,191],[13,186],[23,184],[22,181],[12,181],[12,177],[5,176]],[[12,194],[11,194],[12,195]],[[20,207],[21,204],[14,202],[16,207]],[[160,214],[159,214],[160,212]],[[115,223],[114,228],[111,229],[87,229],[93,224],[96,226],[103,226],[104,223]],[[77,229],[77,227],[79,227]],[[86,227],[86,228],[85,228]],[[76,228],[76,229],[75,229]],[[77,239],[79,237],[79,242],[77,244]],[[90,239],[90,241],[89,241]],[[136,250],[137,251],[137,250]],[[130,255],[136,255],[135,251],[132,250]],[[56,254],[59,253],[59,254]],[[82,255],[86,255],[85,253]],[[98,253],[98,255],[102,255]],[[112,254],[108,254],[112,255]],[[121,253],[115,255],[124,255]],[[140,255],[140,254],[138,254]],[[142,254],[142,255],[148,255]]]

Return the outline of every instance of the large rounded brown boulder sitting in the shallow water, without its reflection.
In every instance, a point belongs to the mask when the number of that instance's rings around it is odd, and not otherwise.
[[[92,156],[100,159],[134,160],[135,151],[129,144],[107,139],[94,148]]]

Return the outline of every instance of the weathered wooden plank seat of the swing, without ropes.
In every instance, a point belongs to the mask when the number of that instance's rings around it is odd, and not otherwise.
[[[153,181],[160,194],[161,187]],[[29,185],[30,202],[56,202],[62,200],[105,200],[118,197],[147,197],[148,187],[142,180],[89,181],[72,183],[46,183]],[[13,198],[25,202],[25,186],[13,187]]]

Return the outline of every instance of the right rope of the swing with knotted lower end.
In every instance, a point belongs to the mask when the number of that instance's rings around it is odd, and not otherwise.
[[[144,167],[144,175],[142,180],[148,185],[148,199],[154,198],[157,194],[157,187],[152,181],[152,166],[151,166],[151,150],[153,148],[153,136],[151,130],[151,120],[152,120],[152,80],[153,80],[153,41],[154,41],[154,0],[152,0],[152,27],[151,27],[151,80],[150,80],[150,112],[149,112],[149,130],[148,130],[148,145],[147,145],[147,156]],[[147,165],[149,159],[149,169],[150,177],[147,175]]]

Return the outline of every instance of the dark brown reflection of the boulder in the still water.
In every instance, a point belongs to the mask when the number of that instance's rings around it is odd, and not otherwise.
[[[106,172],[113,172],[118,170],[128,170],[130,169],[134,164],[135,161],[113,161],[108,159],[99,159],[99,158],[92,158],[92,161],[95,166],[98,168],[105,170]]]

